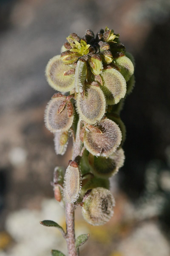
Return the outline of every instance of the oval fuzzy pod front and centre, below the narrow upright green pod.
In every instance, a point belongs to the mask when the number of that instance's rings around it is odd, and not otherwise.
[[[100,87],[95,85],[88,87],[84,99],[82,99],[82,96],[78,93],[77,112],[80,118],[88,124],[95,124],[102,119],[105,114],[105,108],[105,96]]]

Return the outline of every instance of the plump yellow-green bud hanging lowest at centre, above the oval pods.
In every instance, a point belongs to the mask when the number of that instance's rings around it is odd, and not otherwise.
[[[91,72],[94,75],[99,75],[102,72],[103,64],[102,59],[98,54],[93,55],[89,60]]]

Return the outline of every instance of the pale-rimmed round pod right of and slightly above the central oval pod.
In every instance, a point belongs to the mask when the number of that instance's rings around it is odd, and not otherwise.
[[[126,94],[126,81],[116,69],[106,69],[102,72],[103,87],[108,105],[117,104]]]

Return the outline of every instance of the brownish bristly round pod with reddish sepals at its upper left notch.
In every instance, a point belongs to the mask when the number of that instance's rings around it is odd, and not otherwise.
[[[97,126],[102,134],[86,130],[85,148],[93,155],[108,157],[119,147],[122,133],[119,126],[108,118],[102,119]]]

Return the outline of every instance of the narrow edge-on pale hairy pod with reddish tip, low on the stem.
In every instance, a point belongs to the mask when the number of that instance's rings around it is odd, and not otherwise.
[[[67,203],[74,203],[81,192],[81,172],[75,161],[70,161],[64,176],[64,199]]]

